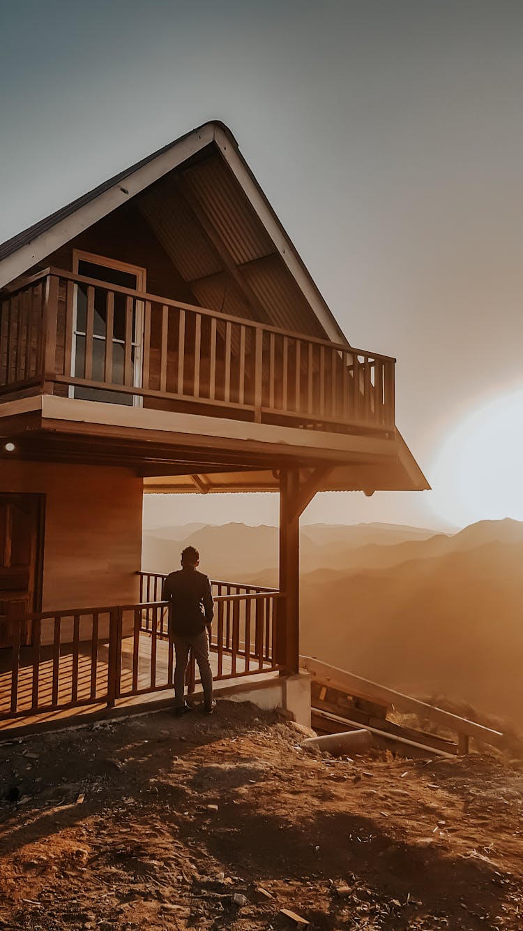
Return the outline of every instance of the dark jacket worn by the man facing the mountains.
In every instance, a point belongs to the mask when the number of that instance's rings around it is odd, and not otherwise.
[[[167,575],[162,598],[169,601],[169,628],[175,636],[197,637],[213,620],[209,578],[190,566]]]

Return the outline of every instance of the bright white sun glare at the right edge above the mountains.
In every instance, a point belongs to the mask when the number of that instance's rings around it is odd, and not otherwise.
[[[523,520],[523,388],[456,425],[429,475],[431,505],[451,524]]]

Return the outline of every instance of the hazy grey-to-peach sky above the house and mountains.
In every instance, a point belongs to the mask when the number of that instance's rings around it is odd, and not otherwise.
[[[350,342],[398,358],[399,428],[465,522],[438,456],[523,385],[523,3],[0,0],[0,20],[0,240],[222,119]],[[495,516],[490,466],[472,519]],[[434,523],[429,505],[321,495],[307,519]],[[169,515],[257,522],[276,501]]]

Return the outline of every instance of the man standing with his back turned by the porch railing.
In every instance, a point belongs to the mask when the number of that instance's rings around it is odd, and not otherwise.
[[[213,621],[213,595],[207,575],[197,572],[200,553],[194,546],[186,546],[181,554],[181,569],[167,575],[163,583],[162,599],[169,602],[169,632],[176,653],[175,712],[186,714],[190,706],[184,698],[185,673],[192,650],[203,686],[204,710],[212,714],[216,708],[213,699],[213,673],[209,663],[209,637]],[[207,636],[207,631],[208,635]]]

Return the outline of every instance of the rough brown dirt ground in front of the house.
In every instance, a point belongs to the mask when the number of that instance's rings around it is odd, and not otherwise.
[[[302,739],[219,702],[1,744],[0,927],[523,928],[520,764]]]

